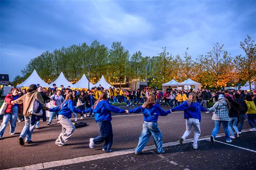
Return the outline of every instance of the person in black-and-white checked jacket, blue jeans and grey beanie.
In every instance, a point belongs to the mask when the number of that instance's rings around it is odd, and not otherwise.
[[[227,143],[232,142],[228,132],[228,122],[229,122],[228,110],[229,110],[229,104],[225,100],[225,97],[223,94],[219,94],[218,101],[215,104],[213,104],[213,107],[206,109],[208,113],[214,111],[212,120],[214,120],[215,125],[211,133],[211,142],[213,143],[215,142],[215,137],[217,136],[217,133],[219,131],[220,124],[222,124],[224,128],[226,142]]]

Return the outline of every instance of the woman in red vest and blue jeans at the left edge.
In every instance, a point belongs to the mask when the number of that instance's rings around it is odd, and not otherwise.
[[[10,121],[10,135],[15,134],[15,128],[16,128],[16,122],[18,118],[18,114],[22,110],[22,105],[21,104],[12,104],[11,102],[15,99],[18,99],[18,89],[17,88],[12,88],[11,93],[7,94],[5,97],[5,102],[8,103],[7,109],[5,110],[5,114],[3,117],[3,122],[1,123],[0,126],[0,139],[3,137],[5,133],[5,128],[7,127],[8,122]]]

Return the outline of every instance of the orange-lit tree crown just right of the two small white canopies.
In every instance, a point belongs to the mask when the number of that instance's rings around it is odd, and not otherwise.
[[[200,56],[199,61],[206,73],[207,84],[213,86],[225,86],[232,76],[231,68],[232,58],[227,51],[223,49],[223,44],[217,42],[213,45],[213,50],[205,56]]]

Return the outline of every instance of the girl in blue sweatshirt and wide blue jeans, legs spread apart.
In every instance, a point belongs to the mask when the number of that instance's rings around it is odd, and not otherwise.
[[[157,153],[163,153],[163,137],[157,125],[158,116],[166,116],[171,113],[171,110],[163,110],[156,104],[154,94],[148,94],[147,101],[142,106],[126,110],[126,113],[143,113],[144,123],[141,135],[139,137],[138,146],[135,149],[135,155],[139,155],[143,148],[147,145],[147,141],[154,137]]]

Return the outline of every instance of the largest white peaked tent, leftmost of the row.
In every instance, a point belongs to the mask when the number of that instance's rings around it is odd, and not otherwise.
[[[50,87],[50,85],[48,85],[47,83],[45,83],[38,75],[37,71],[34,70],[32,72],[32,74],[27,78],[27,80],[25,80],[24,82],[22,82],[21,84],[17,85],[17,87],[21,87],[21,86],[24,86],[24,87],[29,87],[29,85],[32,85],[32,84],[39,84],[41,85],[42,87]]]

